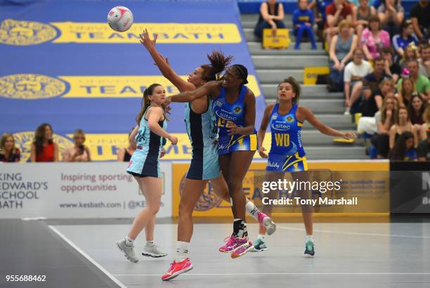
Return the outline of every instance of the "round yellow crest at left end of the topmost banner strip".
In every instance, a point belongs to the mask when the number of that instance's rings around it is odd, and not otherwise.
[[[0,24],[0,43],[8,45],[34,45],[51,41],[57,37],[57,31],[51,25],[5,19]]]

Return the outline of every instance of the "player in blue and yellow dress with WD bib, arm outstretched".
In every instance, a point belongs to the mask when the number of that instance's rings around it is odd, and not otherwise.
[[[259,154],[268,158],[266,166],[266,178],[283,178],[285,173],[292,173],[293,179],[306,181],[306,174],[301,171],[308,170],[306,164],[306,152],[301,141],[301,127],[307,120],[321,133],[328,136],[338,136],[346,139],[355,138],[353,133],[342,133],[326,126],[318,120],[307,107],[299,106],[300,85],[293,77],[282,81],[278,86],[278,101],[268,105],[264,111],[259,130]],[[267,126],[271,127],[272,145],[268,155],[263,148],[263,140]],[[306,228],[305,256],[313,257],[313,223],[312,213],[309,207],[302,207],[302,214]],[[269,211],[267,211],[267,209]],[[265,211],[266,210],[266,211]],[[270,215],[270,207],[264,207],[263,212]],[[267,249],[264,228],[259,230],[259,238],[254,241],[254,251]]]

